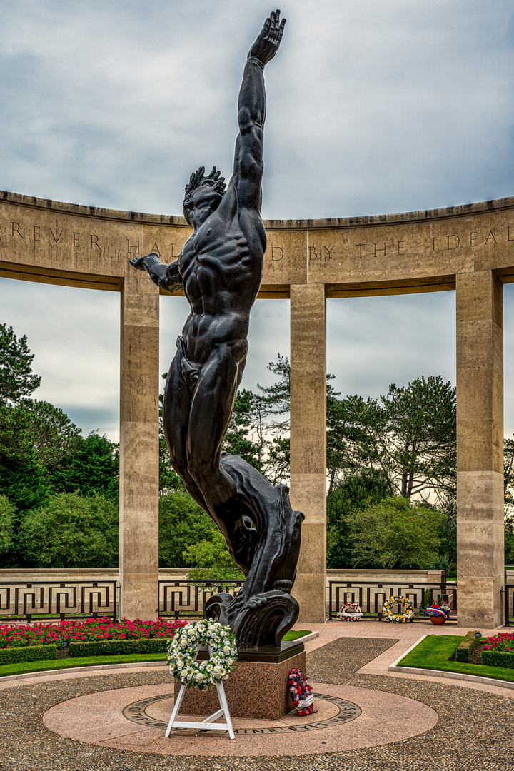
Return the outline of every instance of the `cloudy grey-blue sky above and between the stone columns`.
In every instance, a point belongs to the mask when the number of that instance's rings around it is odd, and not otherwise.
[[[262,0],[2,0],[0,188],[180,214],[200,164],[227,176]],[[266,70],[263,216],[345,217],[514,194],[508,0],[294,0]],[[257,301],[244,385],[288,354],[288,302]],[[514,288],[505,288],[506,433],[514,431]],[[186,301],[161,298],[161,370]],[[35,397],[118,436],[119,296],[0,278],[0,322],[26,334]],[[511,359],[512,363],[511,363]],[[344,395],[418,375],[455,382],[455,296],[328,301]]]

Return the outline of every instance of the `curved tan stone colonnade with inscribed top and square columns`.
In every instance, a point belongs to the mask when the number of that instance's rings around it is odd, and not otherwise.
[[[291,303],[301,621],[325,617],[326,299],[454,290],[459,625],[501,625],[502,284],[514,281],[514,198],[265,225],[259,297]],[[159,290],[128,258],[157,251],[171,261],[189,234],[182,217],[0,194],[0,276],[121,293],[120,584],[129,618],[157,613],[160,372]]]

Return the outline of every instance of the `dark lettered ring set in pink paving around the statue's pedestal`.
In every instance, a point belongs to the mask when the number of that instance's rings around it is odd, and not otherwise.
[[[335,715],[328,719],[317,720],[315,715],[307,715],[310,718],[310,722],[301,722],[291,726],[260,726],[259,728],[234,728],[234,733],[250,734],[250,733],[298,733],[302,731],[319,731],[324,728],[334,728],[344,722],[351,722],[355,718],[361,715],[361,708],[354,704],[354,702],[348,702],[347,699],[339,699],[338,696],[330,696],[328,694],[317,693],[315,695],[316,702],[329,702],[329,705],[333,705],[337,712]],[[146,709],[152,707],[152,705],[158,702],[172,702],[172,698],[169,694],[161,694],[158,696],[151,696],[149,699],[139,699],[137,702],[132,702],[126,705],[123,709],[123,717],[131,722],[138,723],[139,726],[150,726],[151,728],[166,729],[168,723],[163,722],[160,719],[150,717],[146,714]],[[325,705],[323,705],[325,706]],[[167,710],[171,713],[171,709]],[[259,721],[262,723],[263,721]],[[276,722],[276,721],[275,721]],[[183,729],[181,729],[183,730]],[[198,733],[198,729],[190,729],[193,732]],[[207,730],[206,730],[207,733]],[[227,734],[227,731],[223,731]]]

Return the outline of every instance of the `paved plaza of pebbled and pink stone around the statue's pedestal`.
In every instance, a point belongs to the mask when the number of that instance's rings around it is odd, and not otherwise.
[[[514,771],[514,689],[389,670],[422,635],[468,630],[329,621],[313,631],[317,712],[233,719],[233,741],[193,729],[165,738],[173,682],[163,665],[0,680],[0,769]]]

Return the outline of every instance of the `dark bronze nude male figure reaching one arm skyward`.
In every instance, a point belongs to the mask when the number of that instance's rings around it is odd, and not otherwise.
[[[249,493],[248,500],[237,489],[240,476],[233,470],[232,460],[244,461],[227,453],[222,460],[221,446],[244,371],[250,309],[262,278],[266,251],[260,217],[264,66],[277,53],[284,24],[280,11],[271,12],[248,54],[238,101],[233,175],[227,190],[216,167],[207,177],[200,167],[186,186],[183,211],[193,234],[180,256],[168,265],[155,253],[130,260],[167,291],[183,288],[190,303],[166,380],[164,433],[173,468],[191,497],[216,522],[233,561],[245,575],[254,563],[258,544],[261,551],[264,548],[264,523],[256,514],[255,494]],[[298,525],[293,548],[296,560],[299,538]],[[277,574],[270,588],[291,591],[296,560],[291,578]],[[263,569],[264,565],[261,574]],[[261,594],[263,588],[264,584]],[[254,596],[252,606],[265,603],[263,597]]]

